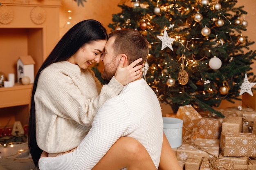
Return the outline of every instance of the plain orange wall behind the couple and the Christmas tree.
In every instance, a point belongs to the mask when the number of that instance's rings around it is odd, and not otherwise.
[[[110,31],[108,24],[112,22],[112,14],[121,12],[121,9],[117,7],[119,2],[120,0],[87,0],[87,2],[84,3],[84,7],[78,7],[74,0],[62,0],[60,13],[60,36],[62,36],[74,24],[85,19],[98,20],[108,29],[108,31]],[[244,10],[248,12],[248,14],[245,15],[245,20],[247,20],[249,25],[247,27],[247,31],[245,31],[243,35],[248,36],[252,41],[256,41],[256,22],[254,19],[256,17],[256,0],[238,0],[237,7],[240,6],[245,6]],[[72,10],[72,12],[68,13],[68,10]],[[72,20],[70,20],[70,25],[67,25],[65,23],[69,21],[69,16],[72,17]],[[250,46],[250,49],[255,50],[256,44]],[[256,63],[252,65],[252,68],[256,75]],[[224,101],[220,108],[240,105],[242,105],[240,101],[236,102],[236,104]],[[161,104],[161,106],[163,115],[171,112],[170,106],[165,104]]]

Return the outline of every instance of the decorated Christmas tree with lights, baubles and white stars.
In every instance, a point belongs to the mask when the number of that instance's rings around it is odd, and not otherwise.
[[[191,104],[208,110],[223,99],[234,103],[251,92],[247,75],[256,52],[249,50],[246,11],[237,0],[121,0],[112,30],[132,28],[150,43],[144,79],[173,111]],[[246,51],[245,51],[246,50]],[[243,84],[243,88],[242,88]]]

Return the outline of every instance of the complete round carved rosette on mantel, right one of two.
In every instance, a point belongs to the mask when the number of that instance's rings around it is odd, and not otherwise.
[[[43,24],[46,20],[46,11],[41,7],[34,7],[30,12],[31,21],[35,24]]]

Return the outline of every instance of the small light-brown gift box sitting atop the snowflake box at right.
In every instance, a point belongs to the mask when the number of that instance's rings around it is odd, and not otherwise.
[[[242,132],[242,117],[227,117],[222,122],[221,132]]]

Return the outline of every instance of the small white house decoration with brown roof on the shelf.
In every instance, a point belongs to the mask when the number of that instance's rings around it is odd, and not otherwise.
[[[20,56],[17,62],[18,83],[21,83],[22,77],[29,77],[30,83],[34,83],[34,60],[30,55]]]

